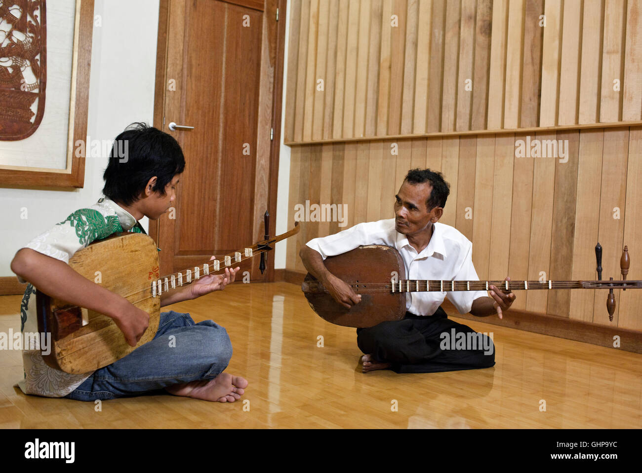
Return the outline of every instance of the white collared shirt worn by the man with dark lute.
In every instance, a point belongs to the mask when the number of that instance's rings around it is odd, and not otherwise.
[[[430,242],[420,253],[395,230],[395,219],[360,223],[328,237],[314,238],[306,245],[324,260],[361,245],[388,245],[401,254],[406,279],[479,281],[473,266],[473,244],[457,229],[439,222],[434,224]],[[467,313],[475,299],[487,295],[485,291],[407,292],[406,310],[415,315],[433,315],[448,297],[460,313]]]

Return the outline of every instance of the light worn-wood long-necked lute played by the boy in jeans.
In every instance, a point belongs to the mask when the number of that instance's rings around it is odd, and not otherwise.
[[[110,317],[36,290],[39,332],[51,333],[51,353],[42,354],[42,357],[50,367],[75,374],[114,363],[154,338],[159,326],[162,294],[187,286],[208,274],[224,273],[226,267],[234,267],[236,263],[259,254],[263,273],[265,253],[272,249],[273,244],[296,235],[299,230],[299,224],[295,222],[290,231],[269,238],[266,213],[265,240],[221,259],[167,276],[159,276],[158,250],[148,235],[117,233],[94,242],[74,253],[69,266],[146,311],[150,315],[149,326],[141,340],[131,347]]]

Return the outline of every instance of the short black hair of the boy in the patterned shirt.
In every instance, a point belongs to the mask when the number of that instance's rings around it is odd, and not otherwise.
[[[183,151],[174,137],[147,124],[132,123],[114,140],[103,174],[103,194],[114,202],[130,205],[138,200],[148,181],[157,176],[153,190],[164,195],[166,185],[184,169]]]

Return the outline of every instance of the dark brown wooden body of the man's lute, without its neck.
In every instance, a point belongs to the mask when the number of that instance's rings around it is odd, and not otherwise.
[[[392,247],[367,245],[347,253],[325,258],[325,267],[361,294],[361,302],[348,309],[334,301],[322,283],[308,274],[302,290],[308,303],[322,319],[345,327],[372,327],[385,320],[401,320],[406,315],[406,295],[388,292],[366,292],[368,281],[390,281],[392,273],[406,277],[401,255]],[[366,284],[363,284],[366,283]]]

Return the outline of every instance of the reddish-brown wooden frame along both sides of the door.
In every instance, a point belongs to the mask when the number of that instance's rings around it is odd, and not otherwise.
[[[169,2],[171,0],[160,0],[159,6],[159,29],[156,49],[156,79],[154,90],[154,114],[153,126],[163,129],[163,109],[165,103],[165,94],[167,87],[166,70],[168,54],[168,31],[169,31]],[[223,0],[225,1],[225,0]],[[275,17],[276,10],[279,8],[279,21],[276,21],[275,42],[276,54],[273,76],[273,95],[272,95],[272,129],[273,138],[270,145],[270,176],[268,178],[268,212],[270,213],[270,234],[275,235],[277,222],[277,185],[279,182],[279,151],[281,149],[281,110],[283,98],[283,67],[284,67],[284,47],[285,47],[285,29],[286,29],[286,5],[287,0],[265,0],[265,19],[268,15]],[[270,31],[270,28],[264,31]],[[269,35],[263,35],[265,40],[270,40]],[[265,44],[261,44],[264,49]],[[268,47],[269,51],[269,47]],[[263,60],[261,61],[263,64]],[[156,241],[159,241],[159,224],[157,220],[150,220],[149,235]],[[263,238],[263,235],[260,236]],[[266,267],[265,281],[274,281],[274,254],[268,257]]]

